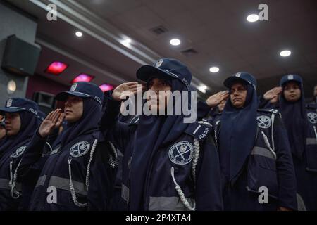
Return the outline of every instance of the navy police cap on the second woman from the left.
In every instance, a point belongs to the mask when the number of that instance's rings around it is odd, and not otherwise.
[[[76,82],[69,91],[63,91],[57,94],[56,99],[58,101],[66,101],[68,96],[78,96],[81,98],[92,98],[100,105],[104,101],[104,92],[101,91],[99,86],[89,82]]]

